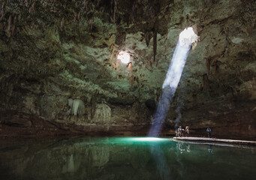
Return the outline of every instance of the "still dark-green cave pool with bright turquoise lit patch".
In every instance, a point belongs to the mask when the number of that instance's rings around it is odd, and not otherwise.
[[[0,142],[5,179],[255,179],[256,148],[164,138]]]

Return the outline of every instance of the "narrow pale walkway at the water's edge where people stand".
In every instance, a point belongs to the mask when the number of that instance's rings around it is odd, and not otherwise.
[[[174,140],[185,140],[185,141],[200,141],[200,142],[224,142],[224,143],[234,143],[241,145],[256,145],[256,141],[247,140],[234,140],[234,139],[217,139],[208,137],[173,137]]]

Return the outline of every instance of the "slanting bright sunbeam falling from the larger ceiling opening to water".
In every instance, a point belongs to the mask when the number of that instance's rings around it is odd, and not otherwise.
[[[185,28],[185,30],[179,34],[179,41],[176,45],[173,58],[170,62],[170,67],[162,86],[163,93],[158,102],[152,126],[149,130],[149,136],[159,136],[164,119],[170,107],[170,102],[173,99],[180,77],[182,76],[188,51],[191,48],[191,43],[194,42],[197,42],[197,35],[194,34],[192,28]]]

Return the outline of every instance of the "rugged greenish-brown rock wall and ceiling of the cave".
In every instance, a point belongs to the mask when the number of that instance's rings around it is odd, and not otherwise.
[[[254,139],[255,3],[0,1],[2,133],[33,128],[31,117],[85,133],[149,127],[179,33],[193,26],[200,41],[164,132],[173,134],[179,107],[194,134],[210,126],[215,136]],[[120,50],[131,54],[131,69]],[[69,99],[83,102],[76,115]]]

